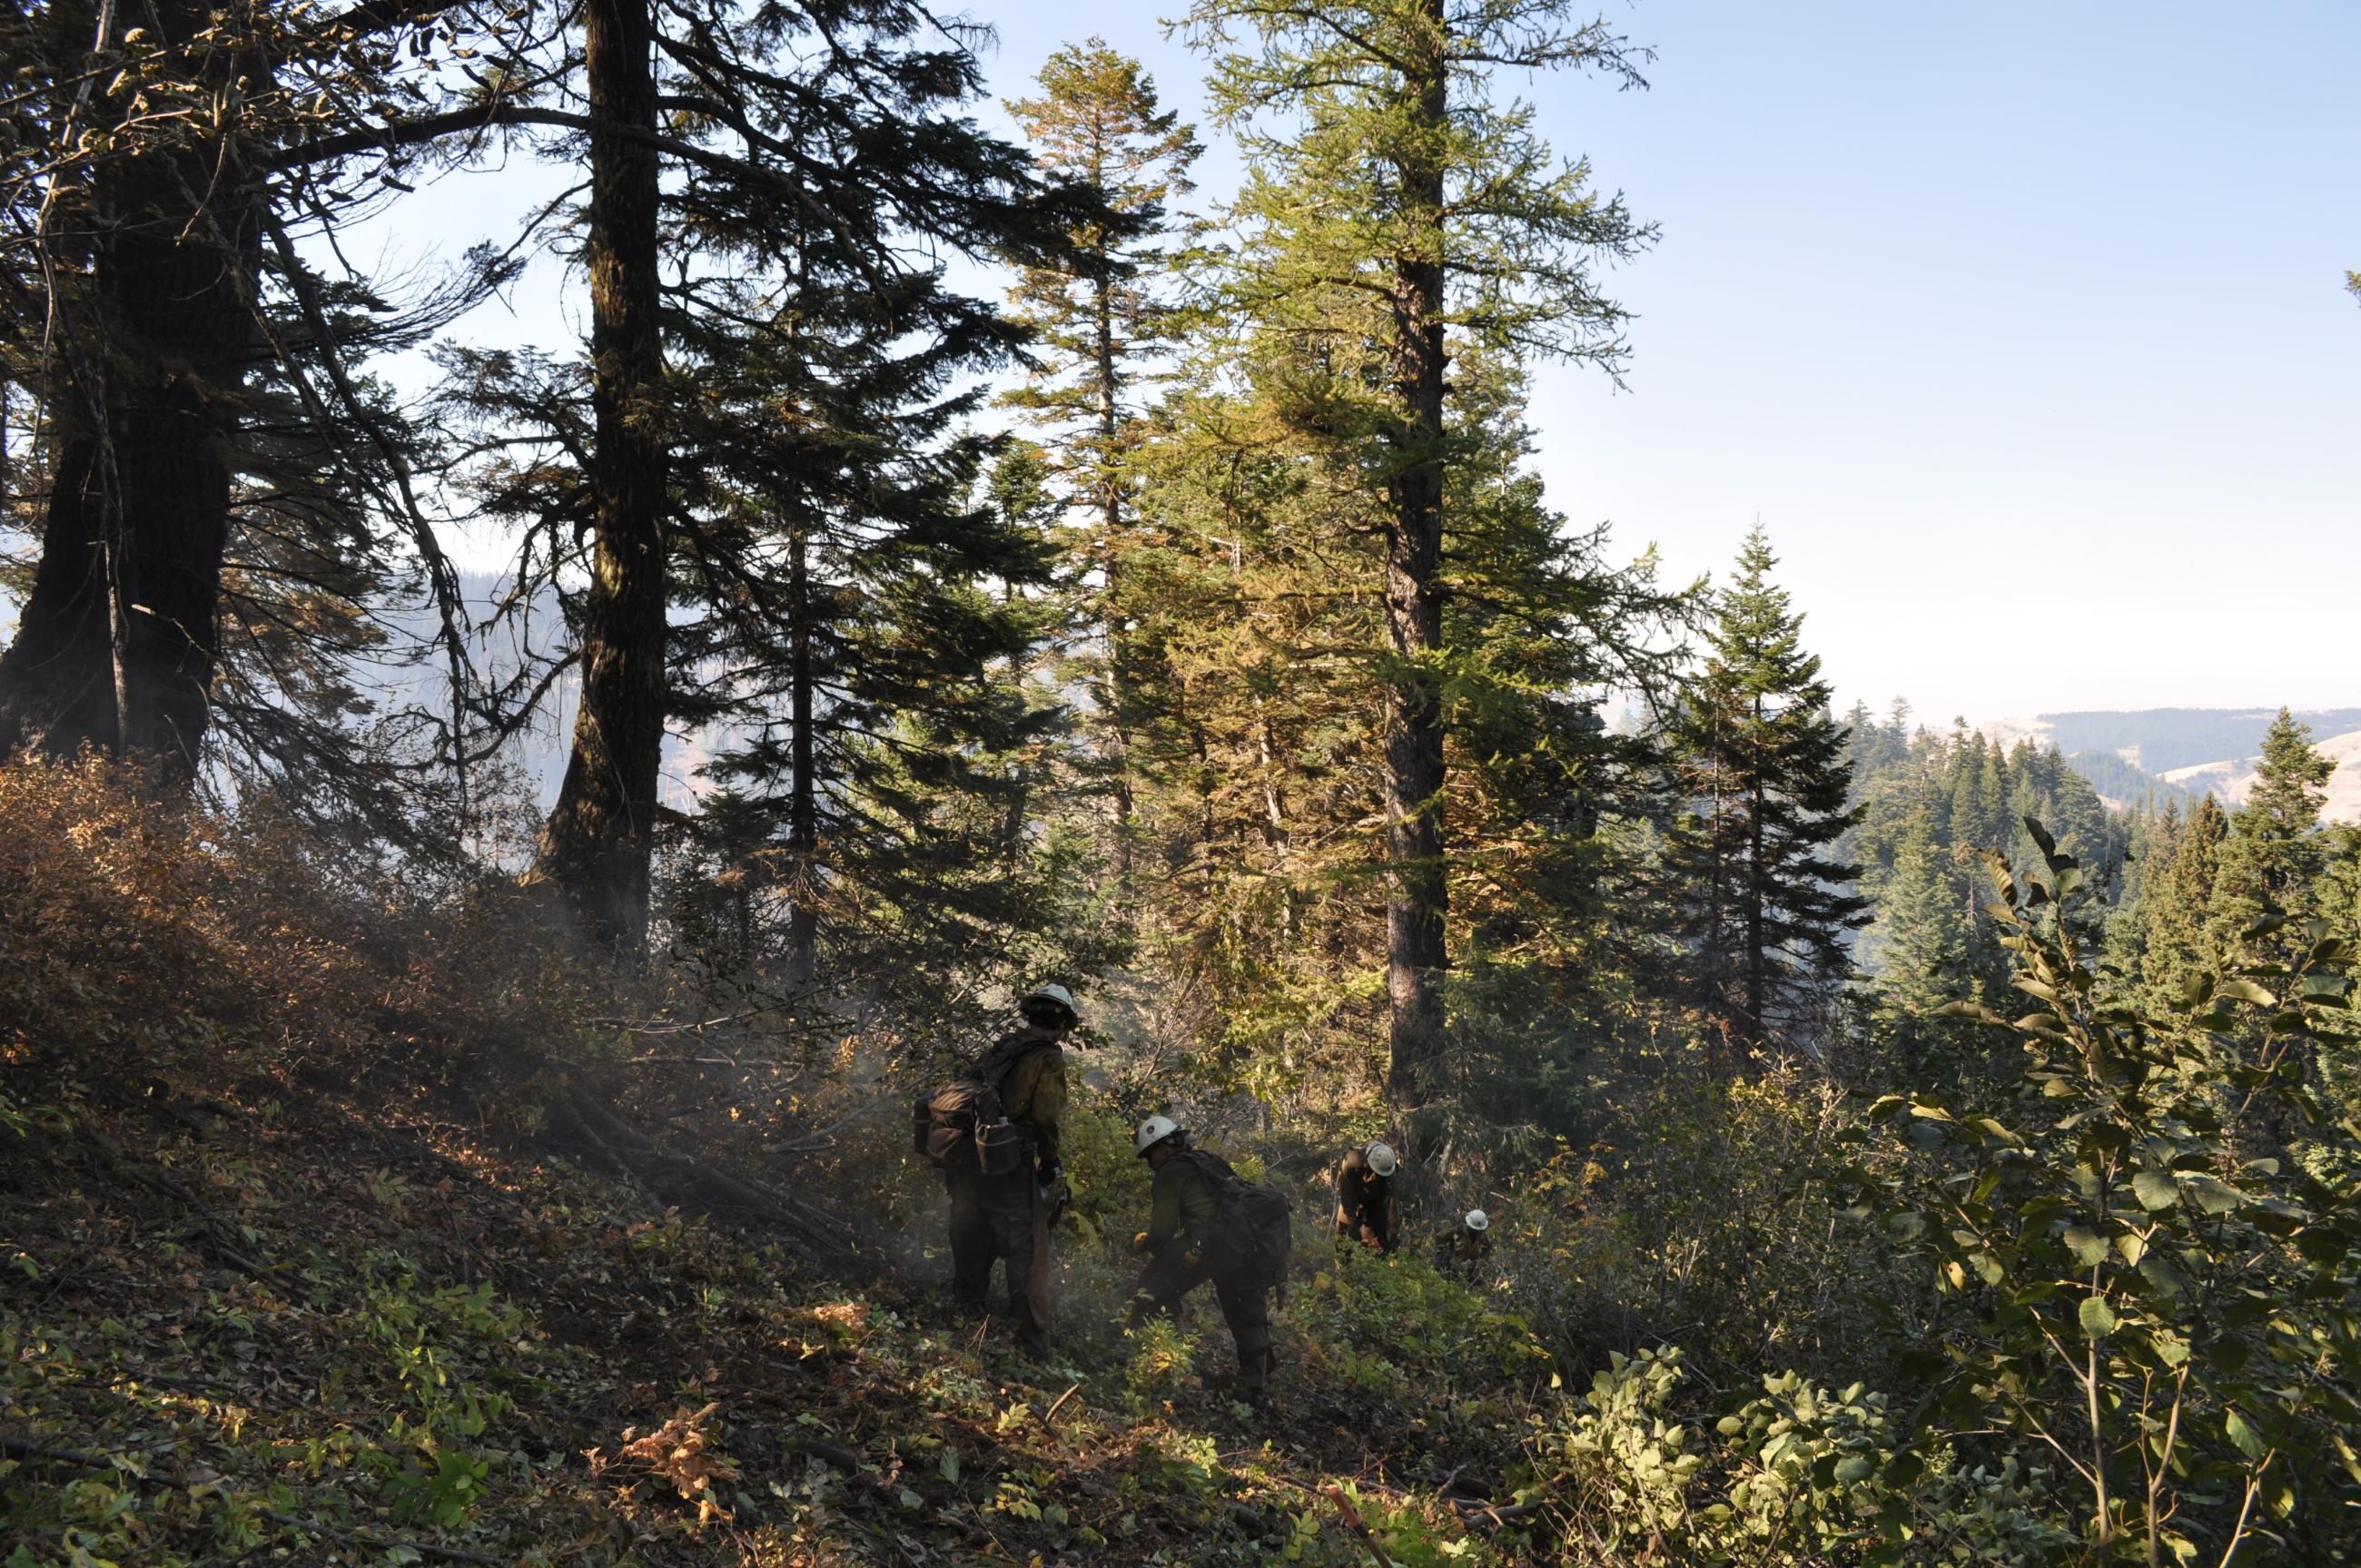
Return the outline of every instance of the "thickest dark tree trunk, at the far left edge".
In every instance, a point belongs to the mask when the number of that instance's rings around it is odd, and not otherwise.
[[[187,5],[151,17],[172,40],[208,24]],[[262,187],[236,142],[106,158],[92,179],[92,319],[59,305],[68,385],[40,567],[0,654],[0,756],[90,744],[156,753],[189,779],[212,692],[229,446],[260,359],[248,290]]]

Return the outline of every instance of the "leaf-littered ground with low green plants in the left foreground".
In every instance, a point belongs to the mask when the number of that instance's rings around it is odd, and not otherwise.
[[[923,1256],[824,1268],[449,1108],[203,1077],[47,1108],[12,1084],[7,1568],[1523,1547],[1506,1488],[1546,1363],[1502,1358],[1513,1327],[1424,1268],[1313,1254],[1289,1370],[1251,1410],[1197,1372],[1230,1363],[1211,1301],[1192,1334],[1124,1337],[1088,1256],[1074,1332],[1032,1363],[949,1313]],[[1419,1360],[1461,1351],[1414,1320],[1440,1292],[1495,1355],[1443,1391]],[[1492,1490],[1509,1521],[1445,1490]]]

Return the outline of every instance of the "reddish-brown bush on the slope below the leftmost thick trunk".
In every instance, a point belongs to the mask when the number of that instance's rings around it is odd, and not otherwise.
[[[609,985],[541,940],[541,902],[449,893],[328,860],[264,808],[212,815],[99,758],[12,760],[0,1067],[144,1084],[236,1060],[352,1084],[399,1065],[399,1091],[593,1048]]]

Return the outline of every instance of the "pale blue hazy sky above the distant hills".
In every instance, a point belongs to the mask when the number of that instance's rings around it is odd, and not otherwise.
[[[1001,97],[1096,28],[1195,111],[1180,2],[970,14]],[[1570,520],[1679,576],[1761,520],[1844,701],[2361,704],[2361,5],[1608,14],[1648,92],[1525,87],[1662,224],[1613,276],[1629,390],[1539,383]],[[1216,139],[1202,196],[1232,172]],[[510,205],[460,184],[401,236]]]

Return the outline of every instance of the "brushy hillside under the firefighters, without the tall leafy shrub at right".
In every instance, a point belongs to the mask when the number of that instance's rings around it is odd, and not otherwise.
[[[1334,1143],[1199,1108],[1294,1209],[1254,1405],[1204,1294],[1121,1327],[1138,1063],[1070,1108],[1027,1360],[942,1296],[902,1129],[940,1067],[888,1072],[890,1020],[781,1032],[567,956],[548,912],[354,895],[264,819],[0,770],[9,1568],[1934,1568],[2071,1540],[2068,1490],[1870,1391],[1905,1377],[1875,1313],[1929,1301],[1924,1270],[1794,1181],[1832,1103],[1787,1067],[1653,1046],[1502,1195],[1469,1282],[1431,1228],[1339,1252]],[[1809,1334],[1766,1329],[1790,1296]]]

